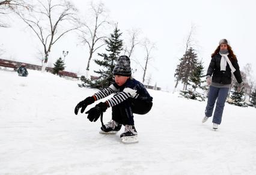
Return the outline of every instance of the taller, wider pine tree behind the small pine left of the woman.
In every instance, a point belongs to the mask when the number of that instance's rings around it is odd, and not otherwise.
[[[177,65],[175,70],[174,77],[176,81],[180,81],[183,83],[183,90],[187,89],[187,82],[189,76],[192,76],[192,73],[196,69],[197,65],[197,53],[195,50],[190,47],[186,54],[183,55],[183,58],[180,58],[180,64]]]

